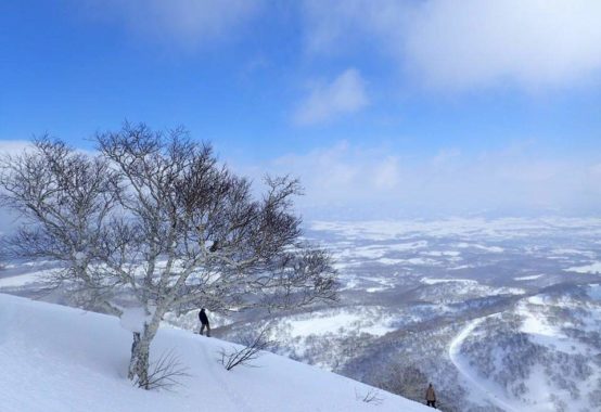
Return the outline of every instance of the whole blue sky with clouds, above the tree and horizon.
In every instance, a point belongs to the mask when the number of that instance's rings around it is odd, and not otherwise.
[[[0,3],[0,140],[184,125],[306,210],[601,206],[597,0]]]

